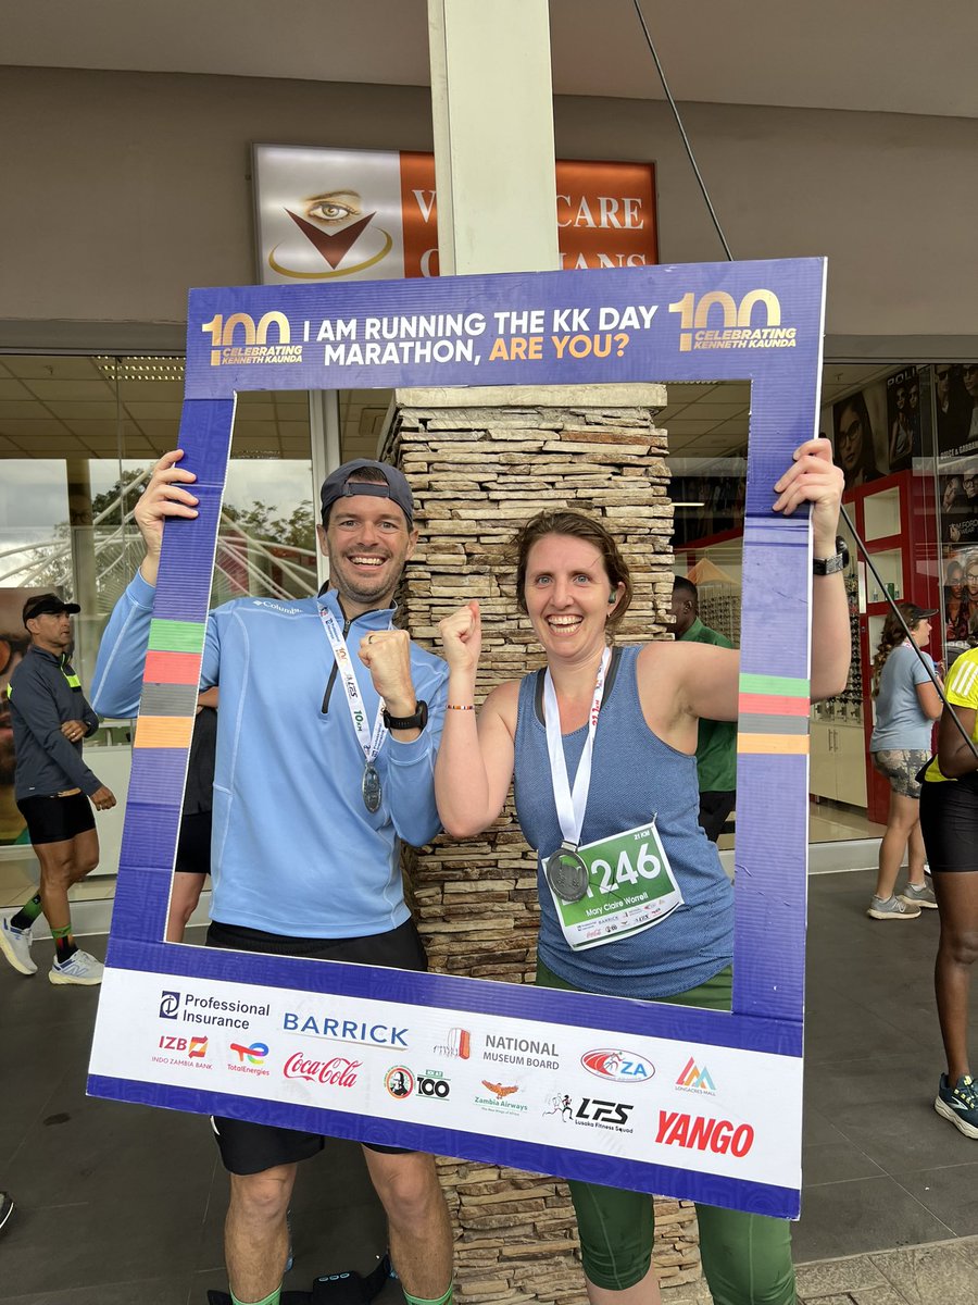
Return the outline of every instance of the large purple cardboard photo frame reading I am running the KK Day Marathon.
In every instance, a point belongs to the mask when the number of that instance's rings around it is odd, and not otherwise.
[[[786,260],[190,292],[200,515],[164,532],[91,1095],[798,1216],[811,544],[771,504],[818,431],[824,287]],[[163,942],[236,392],[722,380],[751,382],[733,1011]]]

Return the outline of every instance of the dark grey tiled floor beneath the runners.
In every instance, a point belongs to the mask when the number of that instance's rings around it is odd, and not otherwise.
[[[865,872],[811,881],[801,1300],[974,1305],[978,1142],[931,1104],[936,912],[871,921],[871,886]],[[52,988],[50,944],[35,951],[37,979],[0,971],[0,1186],[20,1205],[0,1241],[0,1302],[203,1305],[224,1285],[226,1177],[209,1128],[85,1099],[96,994]],[[355,1147],[304,1167],[293,1221],[288,1287],[373,1266],[382,1219]],[[390,1283],[383,1305],[400,1298]]]

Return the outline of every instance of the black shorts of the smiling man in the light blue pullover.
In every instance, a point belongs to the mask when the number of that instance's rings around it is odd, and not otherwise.
[[[393,970],[428,970],[428,957],[413,920],[390,933],[377,933],[364,938],[287,938],[259,929],[214,921],[207,929],[209,947],[228,947],[233,951],[266,951],[278,957],[303,957],[313,960],[347,960],[353,964],[387,966]],[[325,1138],[319,1133],[279,1129],[271,1124],[252,1124],[248,1120],[211,1118],[218,1138],[220,1159],[228,1173],[262,1173],[279,1164],[308,1160],[322,1151]],[[409,1147],[379,1146],[364,1142],[370,1151],[404,1155]]]

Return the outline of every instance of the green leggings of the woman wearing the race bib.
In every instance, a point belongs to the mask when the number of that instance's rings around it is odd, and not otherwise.
[[[536,981],[544,988],[576,990],[542,960],[537,960]],[[732,984],[733,971],[728,967],[699,988],[660,1000],[674,1006],[729,1010]],[[588,1279],[606,1291],[640,1283],[652,1263],[652,1197],[593,1182],[572,1181],[570,1190]],[[696,1219],[703,1272],[715,1305],[794,1305],[788,1220],[703,1205],[696,1206]]]

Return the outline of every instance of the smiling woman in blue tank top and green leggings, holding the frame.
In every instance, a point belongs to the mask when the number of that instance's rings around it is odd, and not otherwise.
[[[815,557],[835,555],[842,475],[828,442],[803,444],[775,491],[776,512],[811,504]],[[436,795],[445,827],[459,838],[484,830],[515,775],[520,825],[540,853],[537,983],[729,1010],[733,890],[696,820],[694,754],[700,716],[737,716],[738,654],[674,642],[612,654],[608,634],[629,607],[631,579],[597,521],[541,513],[516,544],[518,602],[549,675],[494,689],[476,722],[479,607],[442,622],[450,710]],[[811,692],[831,697],[849,669],[841,572],[815,579],[812,628],[819,638]],[[580,882],[574,848],[651,823],[673,872],[661,916],[627,936],[614,917],[602,917],[605,937],[582,947],[567,903],[585,897],[588,880]],[[656,1305],[652,1199],[582,1182],[571,1182],[571,1194],[592,1305]],[[700,1206],[699,1225],[716,1305],[794,1301],[785,1221]]]

